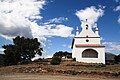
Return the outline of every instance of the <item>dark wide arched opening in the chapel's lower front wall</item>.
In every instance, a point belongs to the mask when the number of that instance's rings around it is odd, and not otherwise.
[[[98,52],[94,49],[86,49],[82,52],[82,58],[98,58]]]

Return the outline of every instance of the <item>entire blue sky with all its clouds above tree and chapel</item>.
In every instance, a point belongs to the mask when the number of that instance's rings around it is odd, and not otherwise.
[[[12,38],[38,38],[43,57],[71,52],[76,26],[88,19],[99,28],[107,52],[120,54],[119,0],[0,0],[0,53]]]

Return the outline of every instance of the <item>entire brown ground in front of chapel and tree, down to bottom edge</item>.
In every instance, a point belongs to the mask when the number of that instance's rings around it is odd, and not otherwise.
[[[120,65],[86,67],[71,66],[70,63],[3,66],[0,67],[0,80],[120,80]]]

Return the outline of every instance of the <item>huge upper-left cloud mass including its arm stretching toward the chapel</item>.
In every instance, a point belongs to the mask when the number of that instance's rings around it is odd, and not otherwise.
[[[60,23],[67,18],[54,18],[50,23],[38,25],[36,20],[43,17],[40,15],[45,0],[1,0],[0,1],[0,36],[11,39],[16,36],[38,38],[44,43],[46,37],[60,36],[71,37],[73,28]]]

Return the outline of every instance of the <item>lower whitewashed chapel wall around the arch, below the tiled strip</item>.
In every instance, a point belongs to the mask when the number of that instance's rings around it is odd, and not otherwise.
[[[98,52],[98,58],[82,58],[82,52],[86,49],[93,49]],[[105,49],[104,47],[77,47],[73,50],[73,58],[78,62],[86,63],[103,63],[105,64]]]

